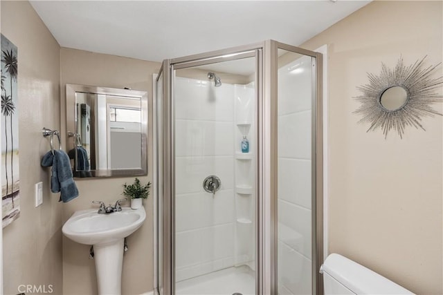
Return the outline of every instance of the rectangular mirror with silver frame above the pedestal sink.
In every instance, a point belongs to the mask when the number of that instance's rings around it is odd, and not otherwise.
[[[147,173],[147,92],[66,84],[74,177]]]

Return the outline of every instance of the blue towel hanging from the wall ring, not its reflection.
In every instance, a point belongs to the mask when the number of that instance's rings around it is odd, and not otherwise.
[[[51,170],[51,191],[53,193],[60,192],[59,202],[66,203],[78,197],[78,189],[72,178],[71,162],[64,151],[48,151],[43,156],[42,166],[53,166]]]

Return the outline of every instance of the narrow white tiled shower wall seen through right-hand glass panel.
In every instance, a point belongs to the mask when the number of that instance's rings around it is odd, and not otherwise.
[[[311,293],[310,57],[278,70],[278,291]]]

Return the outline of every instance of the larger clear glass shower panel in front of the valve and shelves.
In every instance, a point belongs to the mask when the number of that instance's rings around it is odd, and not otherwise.
[[[255,66],[174,70],[175,294],[255,294]]]

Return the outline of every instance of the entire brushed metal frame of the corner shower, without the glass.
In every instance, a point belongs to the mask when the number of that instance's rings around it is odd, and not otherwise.
[[[158,196],[158,203],[162,198],[162,212],[159,213],[162,228],[162,264],[161,283],[162,294],[175,294],[175,151],[174,151],[174,93],[172,89],[174,70],[203,64],[214,64],[220,61],[230,61],[245,57],[255,57],[255,129],[256,156],[255,156],[255,292],[256,294],[277,295],[277,82],[278,82],[278,49],[289,50],[300,55],[314,57],[312,72],[312,291],[313,294],[323,294],[323,280],[318,273],[323,263],[323,133],[322,133],[322,55],[310,50],[289,46],[278,41],[266,40],[257,44],[237,46],[223,50],[216,50],[199,55],[190,55],[176,59],[165,59],[157,76],[163,75],[162,101],[154,105],[161,111],[161,120],[154,118],[156,132],[163,131],[161,145],[157,138],[154,153],[159,156],[154,170],[158,175],[157,184],[162,191]],[[315,66],[316,64],[316,66]],[[156,85],[154,85],[156,87]],[[156,97],[154,97],[156,101]],[[156,110],[154,110],[156,113]],[[157,116],[155,116],[157,117]],[[160,169],[159,169],[160,168]],[[158,209],[158,207],[157,207]],[[159,222],[154,222],[155,226]],[[155,239],[154,239],[155,240]],[[159,241],[158,241],[159,242]],[[159,249],[154,247],[154,256]],[[158,265],[154,265],[154,291],[159,293]]]

